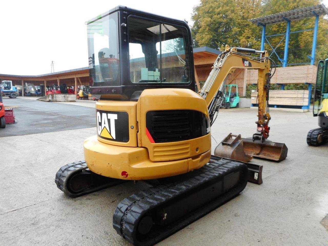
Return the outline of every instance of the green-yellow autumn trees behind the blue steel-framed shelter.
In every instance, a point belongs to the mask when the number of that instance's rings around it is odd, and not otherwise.
[[[194,46],[209,46],[214,49],[224,49],[226,44],[245,48],[260,49],[262,28],[252,24],[249,19],[278,12],[320,4],[319,0],[201,0],[195,6],[192,20],[192,35]],[[315,17],[292,21],[291,31],[314,28]],[[286,32],[286,22],[268,25],[266,35]],[[327,48],[328,21],[323,16],[319,20],[319,32],[316,60],[328,56]],[[282,36],[269,37],[273,47],[276,47]],[[310,62],[313,31],[290,34],[288,62]],[[285,40],[278,45],[276,52],[283,58]],[[272,52],[266,42],[265,49]],[[277,63],[277,56],[271,56]]]

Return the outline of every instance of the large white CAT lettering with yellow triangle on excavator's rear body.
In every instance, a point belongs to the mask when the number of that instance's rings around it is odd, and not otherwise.
[[[107,139],[115,139],[115,120],[117,120],[117,114],[97,111],[98,135]]]

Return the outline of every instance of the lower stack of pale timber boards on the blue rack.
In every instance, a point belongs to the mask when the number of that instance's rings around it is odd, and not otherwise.
[[[251,93],[252,104],[257,104],[257,91]],[[271,90],[269,105],[307,106],[309,91],[307,90]]]

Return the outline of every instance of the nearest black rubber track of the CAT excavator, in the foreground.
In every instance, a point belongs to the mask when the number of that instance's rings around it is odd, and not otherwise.
[[[245,188],[248,180],[248,169],[245,164],[224,159],[215,161],[211,159],[211,161],[210,164],[201,169],[191,172],[192,177],[187,179],[182,177],[182,181],[160,184],[126,197],[117,206],[113,215],[113,227],[116,232],[133,245],[154,245],[238,195]],[[230,189],[171,224],[160,227],[157,231],[151,231],[150,235],[147,235],[148,238],[146,240],[138,241],[136,236],[138,222],[147,211],[197,188],[204,182],[236,171],[240,171],[240,178],[235,188]]]

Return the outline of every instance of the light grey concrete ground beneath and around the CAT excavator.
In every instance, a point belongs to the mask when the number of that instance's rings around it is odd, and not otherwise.
[[[58,113],[57,104],[38,105]],[[64,112],[76,109],[67,106]],[[38,110],[30,111],[31,117]],[[271,116],[270,139],[287,145],[286,160],[253,159],[263,165],[263,184],[248,183],[236,198],[158,245],[328,245],[323,220],[328,213],[328,145],[306,144],[318,119],[310,112],[273,111]],[[211,132],[217,142],[230,132],[249,137],[255,121],[255,110],[220,110]],[[15,126],[25,127],[21,122]],[[94,134],[92,127],[0,138],[0,245],[130,245],[113,229],[113,212],[147,185],[127,182],[72,199],[54,183],[61,166],[84,158],[83,140]]]

